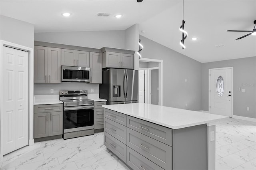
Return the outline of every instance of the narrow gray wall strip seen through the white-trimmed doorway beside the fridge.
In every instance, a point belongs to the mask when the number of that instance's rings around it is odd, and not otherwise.
[[[158,69],[151,70],[151,104],[158,105]]]

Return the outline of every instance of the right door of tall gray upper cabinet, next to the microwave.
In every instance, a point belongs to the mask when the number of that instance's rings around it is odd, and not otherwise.
[[[48,83],[60,83],[60,48],[48,47]]]

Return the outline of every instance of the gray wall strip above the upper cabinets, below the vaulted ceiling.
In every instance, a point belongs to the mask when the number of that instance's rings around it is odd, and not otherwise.
[[[91,48],[124,49],[124,31],[84,31],[35,33],[35,41],[76,45]]]

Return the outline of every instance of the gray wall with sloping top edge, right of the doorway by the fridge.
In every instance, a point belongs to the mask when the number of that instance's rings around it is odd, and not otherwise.
[[[202,63],[143,36],[141,42],[142,58],[163,60],[163,105],[202,110]]]

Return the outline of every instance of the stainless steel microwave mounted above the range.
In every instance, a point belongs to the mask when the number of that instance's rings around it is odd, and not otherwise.
[[[61,81],[90,82],[90,67],[61,66]]]

